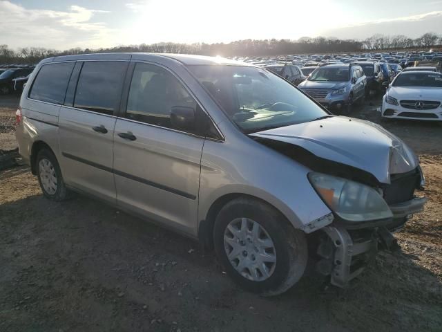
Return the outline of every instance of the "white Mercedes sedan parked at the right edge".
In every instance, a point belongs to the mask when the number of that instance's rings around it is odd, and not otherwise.
[[[397,75],[383,97],[381,116],[442,121],[442,74],[407,71]]]

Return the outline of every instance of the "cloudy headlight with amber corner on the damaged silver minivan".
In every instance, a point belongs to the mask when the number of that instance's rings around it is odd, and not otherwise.
[[[309,180],[328,207],[346,221],[370,221],[392,218],[382,196],[372,187],[316,172]]]

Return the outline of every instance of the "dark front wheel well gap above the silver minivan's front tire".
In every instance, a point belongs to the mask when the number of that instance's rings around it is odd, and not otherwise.
[[[265,203],[267,205],[270,205],[275,210],[279,211],[275,206],[271,205],[267,201],[264,201],[256,196],[251,196],[248,194],[226,194],[224,196],[221,196],[218,198],[211,207],[209,208],[209,212],[207,212],[206,219],[203,219],[200,221],[200,225],[198,227],[198,239],[200,243],[203,244],[205,248],[208,248],[210,250],[213,249],[213,225],[215,225],[215,219],[218,215],[218,212],[230,201],[233,201],[234,199],[238,199],[239,197],[245,197],[249,199],[255,199],[256,201],[261,201],[262,203]],[[279,211],[280,212],[280,211]],[[282,212],[280,212],[282,216]]]

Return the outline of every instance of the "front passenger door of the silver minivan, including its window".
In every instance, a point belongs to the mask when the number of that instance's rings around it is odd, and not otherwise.
[[[204,137],[173,127],[171,108],[199,106],[168,69],[133,66],[126,112],[114,132],[117,204],[194,234]]]

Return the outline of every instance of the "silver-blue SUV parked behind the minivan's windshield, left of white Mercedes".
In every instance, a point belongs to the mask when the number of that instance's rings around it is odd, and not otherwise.
[[[354,64],[320,66],[298,88],[329,111],[343,114],[350,113],[354,103],[362,104],[369,92],[362,67]]]

